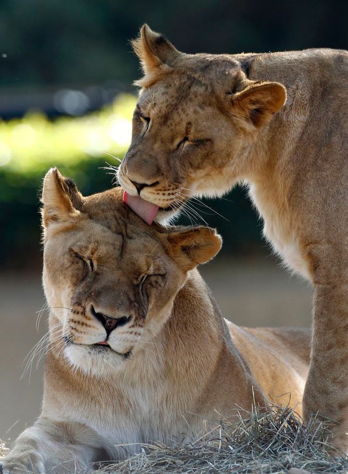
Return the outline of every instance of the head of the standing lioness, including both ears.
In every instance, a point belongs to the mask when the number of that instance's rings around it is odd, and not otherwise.
[[[118,178],[169,217],[190,196],[219,195],[255,163],[247,152],[286,99],[248,80],[230,55],[184,54],[144,25],[133,42],[144,77]]]

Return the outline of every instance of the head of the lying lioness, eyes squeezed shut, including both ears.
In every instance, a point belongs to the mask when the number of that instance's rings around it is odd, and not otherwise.
[[[57,169],[45,176],[42,203],[51,345],[98,375],[159,333],[188,271],[221,246],[213,229],[148,226],[121,188],[83,197]]]

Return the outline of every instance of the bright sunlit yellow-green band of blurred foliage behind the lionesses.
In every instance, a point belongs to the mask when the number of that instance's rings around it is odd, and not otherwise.
[[[91,157],[107,158],[107,153],[123,156],[135,103],[134,96],[123,94],[111,106],[82,117],[49,121],[36,112],[0,122],[0,170],[30,177],[52,164],[73,167]],[[11,199],[4,193],[0,189],[0,201]]]

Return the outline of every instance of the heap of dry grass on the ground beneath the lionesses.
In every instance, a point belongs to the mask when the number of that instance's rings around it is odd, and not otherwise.
[[[320,474],[348,472],[348,458],[332,457],[325,425],[305,428],[288,408],[248,414],[238,424],[221,422],[187,444],[144,445],[141,453],[95,474],[285,474],[291,467]],[[0,457],[5,446],[0,443]]]

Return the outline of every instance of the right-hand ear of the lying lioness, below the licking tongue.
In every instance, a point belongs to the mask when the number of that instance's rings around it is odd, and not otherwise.
[[[220,250],[222,239],[210,227],[184,228],[167,235],[169,252],[179,267],[188,271],[209,262]]]

